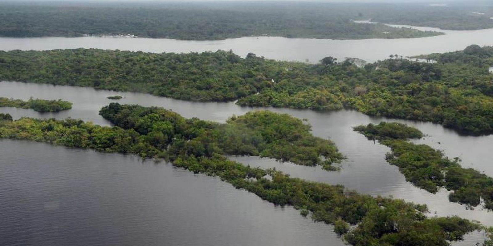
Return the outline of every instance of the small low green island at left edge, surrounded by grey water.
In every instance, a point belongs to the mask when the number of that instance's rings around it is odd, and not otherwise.
[[[63,110],[68,110],[72,108],[72,103],[68,101],[58,100],[44,100],[44,99],[33,99],[29,98],[28,101],[21,99],[12,99],[0,97],[0,107],[16,107],[33,109],[36,112],[60,112]]]

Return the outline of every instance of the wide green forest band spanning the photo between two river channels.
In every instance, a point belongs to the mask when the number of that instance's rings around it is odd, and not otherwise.
[[[424,56],[423,56],[424,57]],[[466,134],[493,132],[493,48],[432,54],[434,63],[357,59],[280,62],[231,51],[190,54],[98,49],[0,51],[0,79],[147,92],[239,105],[356,109],[443,124]]]

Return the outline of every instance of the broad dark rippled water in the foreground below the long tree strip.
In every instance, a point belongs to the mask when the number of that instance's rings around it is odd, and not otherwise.
[[[332,227],[135,156],[0,140],[2,246],[343,246]]]

